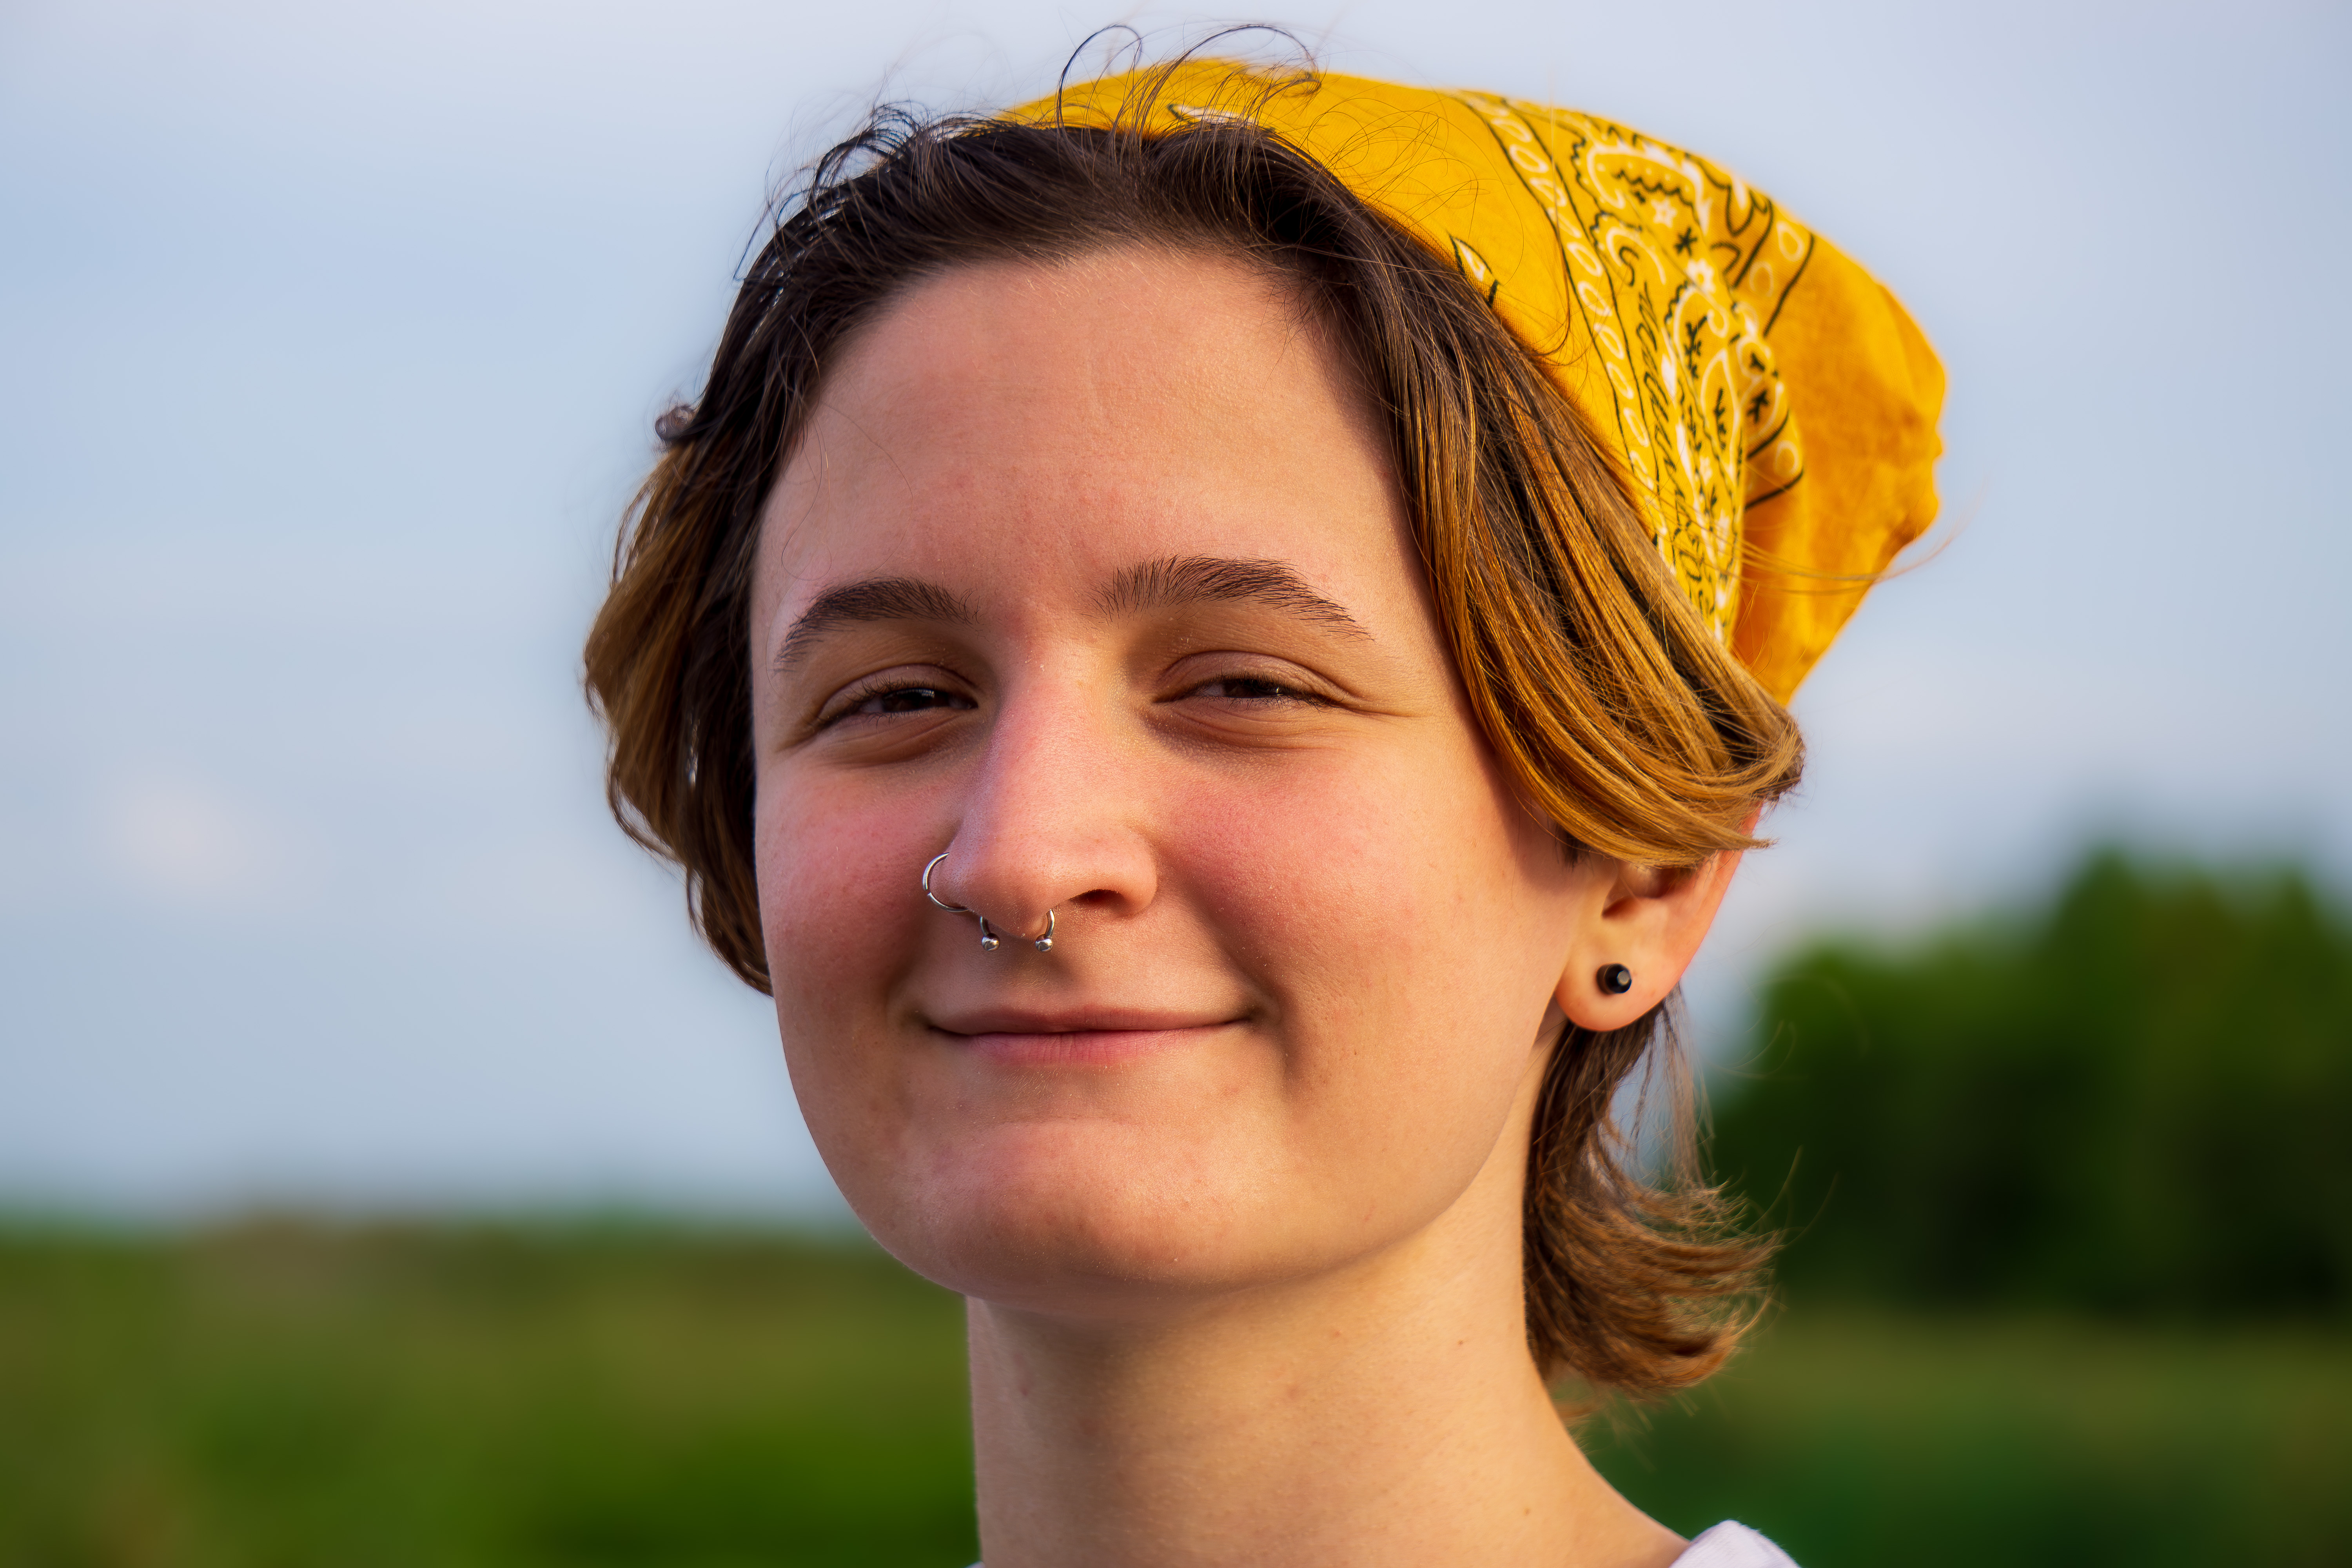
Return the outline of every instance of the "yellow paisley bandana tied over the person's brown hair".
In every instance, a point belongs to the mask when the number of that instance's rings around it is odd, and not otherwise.
[[[1056,115],[1254,120],[1458,266],[1623,461],[1691,604],[1783,703],[1936,520],[1936,353],[1893,294],[1703,158],[1566,108],[1230,61],[1084,82],[1009,118]]]

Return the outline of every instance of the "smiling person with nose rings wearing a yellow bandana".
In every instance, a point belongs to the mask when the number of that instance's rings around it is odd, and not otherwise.
[[[969,1302],[988,1568],[1788,1561],[1555,1387],[1752,1319],[1665,1025],[1938,400],[1769,197],[1515,99],[1183,59],[814,167],[586,679]]]

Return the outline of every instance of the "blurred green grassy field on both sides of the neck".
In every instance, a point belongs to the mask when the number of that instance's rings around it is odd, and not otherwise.
[[[1585,1427],[1806,1568],[2352,1563],[2352,1342],[1797,1307]],[[870,1248],[633,1227],[0,1237],[0,1563],[974,1554],[957,1302]]]

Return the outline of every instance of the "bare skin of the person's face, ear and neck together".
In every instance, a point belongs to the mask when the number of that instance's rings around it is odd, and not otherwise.
[[[1277,280],[903,292],[769,498],[753,703],[793,1084],[969,1298],[990,1568],[1675,1559],[1526,1354],[1519,1199],[1562,1018],[1661,1001],[1733,858],[1573,858],[1522,806]],[[997,952],[922,898],[941,851]]]

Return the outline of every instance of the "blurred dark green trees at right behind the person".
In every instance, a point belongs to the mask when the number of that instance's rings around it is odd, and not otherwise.
[[[2303,872],[2105,849],[2039,912],[1816,940],[1710,1093],[1790,1295],[2352,1314],[2352,919]]]

